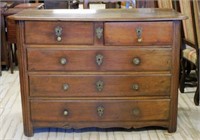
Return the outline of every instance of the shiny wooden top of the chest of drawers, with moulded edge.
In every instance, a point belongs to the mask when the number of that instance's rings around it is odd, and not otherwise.
[[[43,21],[155,21],[183,20],[187,17],[171,9],[138,8],[23,10],[10,18]]]

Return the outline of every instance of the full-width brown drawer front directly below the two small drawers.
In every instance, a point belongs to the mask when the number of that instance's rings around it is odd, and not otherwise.
[[[171,49],[28,49],[28,69],[57,71],[168,71]]]

